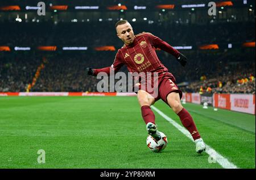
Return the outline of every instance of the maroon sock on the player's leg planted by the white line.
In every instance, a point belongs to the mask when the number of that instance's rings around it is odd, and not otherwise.
[[[183,108],[178,114],[180,117],[181,123],[184,125],[185,128],[191,133],[194,140],[199,139],[200,133],[197,131],[196,124],[194,123],[191,115],[185,108]]]

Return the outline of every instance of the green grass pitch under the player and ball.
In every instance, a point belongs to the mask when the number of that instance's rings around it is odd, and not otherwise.
[[[162,101],[154,105],[180,123]],[[255,168],[255,116],[184,104],[205,143],[238,168]],[[168,138],[146,145],[136,97],[0,97],[0,168],[222,168],[155,112]],[[39,149],[46,162],[38,163]]]

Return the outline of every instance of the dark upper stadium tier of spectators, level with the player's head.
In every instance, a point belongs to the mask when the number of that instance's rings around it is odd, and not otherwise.
[[[242,44],[255,41],[255,27],[250,22],[221,24],[180,24],[131,22],[134,33],[151,32],[171,45]],[[102,32],[104,30],[104,33]],[[200,33],[199,33],[200,32]],[[233,33],[236,32],[236,33]],[[114,22],[85,23],[5,23],[0,28],[2,44],[38,47],[40,45],[60,46],[102,46],[121,47],[114,29]],[[102,35],[103,34],[103,35]],[[11,37],[11,38],[10,38]]]

